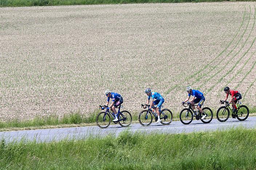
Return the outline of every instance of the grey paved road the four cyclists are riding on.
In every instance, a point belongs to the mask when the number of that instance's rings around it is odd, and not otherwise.
[[[200,120],[193,120],[191,124],[184,125],[180,121],[172,122],[168,126],[152,123],[151,126],[143,127],[139,123],[131,124],[128,128],[119,125],[111,125],[107,129],[100,129],[97,126],[91,127],[74,127],[74,128],[58,128],[58,129],[40,129],[28,131],[12,131],[0,132],[0,139],[7,142],[20,141],[21,139],[36,140],[37,142],[49,142],[62,139],[83,139],[88,136],[105,136],[109,133],[119,134],[122,131],[130,132],[164,132],[164,133],[189,133],[198,131],[215,131],[232,127],[243,126],[246,128],[254,128],[256,125],[256,117],[249,117],[244,122],[237,119],[229,118],[227,122],[221,123],[217,119],[213,119],[211,123],[204,124]]]

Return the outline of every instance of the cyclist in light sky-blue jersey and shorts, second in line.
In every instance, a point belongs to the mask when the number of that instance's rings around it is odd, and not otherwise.
[[[147,103],[146,103],[147,105],[149,103],[150,98],[152,98],[149,109],[151,109],[152,106],[157,105],[157,107],[154,107],[154,109],[156,110],[156,113],[157,113],[157,118],[158,118],[156,123],[161,122],[159,111],[160,111],[160,108],[161,108],[162,104],[164,103],[164,98],[161,96],[161,94],[159,94],[157,92],[151,92],[151,89],[149,89],[149,88],[147,88],[145,90],[145,93],[148,95],[148,100],[147,100]],[[155,101],[154,101],[154,99],[155,99]],[[145,106],[144,106],[144,109],[145,109]]]

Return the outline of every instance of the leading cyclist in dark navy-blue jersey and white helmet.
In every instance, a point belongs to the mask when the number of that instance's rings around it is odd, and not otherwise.
[[[118,121],[116,107],[120,106],[124,102],[123,97],[121,96],[121,94],[111,92],[108,89],[105,91],[105,95],[108,97],[107,103],[105,104],[106,106],[108,106],[110,99],[112,99],[111,106],[107,107],[107,109],[110,109],[115,114],[115,119],[113,120],[113,122],[116,122]],[[102,109],[105,108],[103,107]]]

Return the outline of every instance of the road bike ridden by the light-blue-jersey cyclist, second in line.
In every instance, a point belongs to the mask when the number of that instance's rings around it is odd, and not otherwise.
[[[152,109],[149,109],[150,105],[141,105],[141,108],[143,108],[144,106],[146,106],[148,109],[143,110],[143,111],[140,112],[139,122],[142,126],[149,126],[152,123],[153,116],[155,117],[155,121],[158,120],[156,111],[152,110],[156,107],[152,107]],[[160,108],[159,112],[160,112],[161,124],[168,125],[172,122],[172,112],[171,112],[171,110],[169,110],[169,109],[161,110],[161,108]]]

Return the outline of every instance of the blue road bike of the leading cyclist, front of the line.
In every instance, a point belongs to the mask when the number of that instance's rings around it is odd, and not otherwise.
[[[101,109],[102,107],[105,107],[105,109]],[[113,122],[115,124],[119,123],[120,126],[122,127],[128,127],[132,123],[132,115],[127,110],[120,111],[121,105],[116,108],[118,108],[118,112],[117,112],[118,120]],[[113,114],[108,109],[108,106],[100,105],[100,109],[105,111],[102,111],[97,115],[96,123],[100,128],[105,129],[110,125],[111,118],[115,119],[115,114]]]

